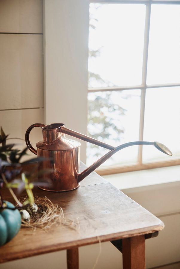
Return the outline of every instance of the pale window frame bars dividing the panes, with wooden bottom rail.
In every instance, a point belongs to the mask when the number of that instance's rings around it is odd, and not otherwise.
[[[147,63],[148,63],[148,46],[150,35],[150,16],[152,4],[180,4],[180,1],[156,1],[156,0],[91,0],[90,3],[102,3],[102,4],[145,4],[146,16],[145,16],[145,30],[144,30],[144,49],[143,49],[143,67],[142,67],[142,84],[126,87],[106,87],[106,88],[88,88],[88,93],[100,92],[100,91],[122,91],[141,89],[141,106],[140,106],[140,126],[139,126],[139,140],[143,140],[144,132],[144,112],[145,112],[145,98],[146,89],[148,88],[164,88],[164,87],[176,87],[180,86],[180,83],[168,83],[168,84],[154,84],[147,85]],[[173,159],[172,161],[158,161],[152,163],[142,162],[142,145],[138,146],[138,161],[134,165],[127,166],[107,166],[98,168],[96,172],[99,175],[108,175],[120,172],[130,172],[143,169],[151,169],[165,166],[174,166],[180,164],[180,159]]]

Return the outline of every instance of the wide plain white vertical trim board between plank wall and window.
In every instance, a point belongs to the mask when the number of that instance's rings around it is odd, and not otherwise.
[[[89,0],[44,1],[45,121],[86,134]],[[81,141],[86,162],[86,143]]]

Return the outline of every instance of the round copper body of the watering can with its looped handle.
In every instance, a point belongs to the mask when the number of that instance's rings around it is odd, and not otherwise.
[[[64,124],[33,124],[26,132],[25,140],[28,148],[37,155],[45,158],[39,162],[38,170],[52,169],[48,176],[48,186],[40,187],[47,191],[61,192],[76,189],[80,186],[77,175],[80,172],[80,143],[65,137],[59,132],[59,127]],[[37,150],[32,147],[29,141],[29,133],[33,127],[42,128],[43,140],[36,143]],[[41,175],[41,179],[47,175]]]

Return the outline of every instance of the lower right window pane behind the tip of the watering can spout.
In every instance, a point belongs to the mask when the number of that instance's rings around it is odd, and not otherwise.
[[[154,147],[143,146],[143,161],[180,158],[180,87],[154,88],[146,92],[144,140],[161,142],[173,153],[168,156]]]

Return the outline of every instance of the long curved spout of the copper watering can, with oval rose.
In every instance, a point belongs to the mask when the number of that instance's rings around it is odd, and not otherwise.
[[[170,149],[168,149],[164,144],[161,144],[157,141],[155,141],[155,142],[134,141],[134,142],[125,143],[125,144],[122,144],[122,145],[116,147],[115,149],[112,149],[111,151],[106,153],[103,157],[101,157],[99,160],[97,160],[95,163],[93,163],[91,166],[86,168],[83,172],[78,174],[78,178],[77,178],[78,182],[82,181],[87,175],[89,175],[91,172],[93,172],[97,167],[99,167],[102,163],[104,163],[106,160],[108,160],[113,154],[115,154],[119,150],[124,149],[124,148],[129,147],[129,146],[134,146],[134,145],[155,146],[155,148],[160,150],[161,152],[172,156],[172,152],[170,151]]]

